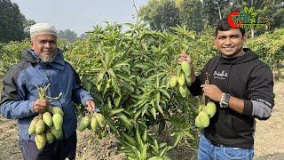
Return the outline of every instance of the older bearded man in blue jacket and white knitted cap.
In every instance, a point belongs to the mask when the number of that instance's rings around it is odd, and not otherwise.
[[[57,31],[48,23],[37,23],[30,28],[31,49],[22,52],[22,60],[4,76],[1,93],[1,113],[8,119],[18,119],[20,148],[24,159],[75,159],[76,124],[75,103],[88,109],[95,108],[91,94],[80,85],[80,79],[57,48]],[[40,100],[38,87],[50,84],[49,97],[59,100]],[[35,135],[28,134],[28,125],[47,107],[57,106],[64,111],[60,140],[42,150],[36,148]]]

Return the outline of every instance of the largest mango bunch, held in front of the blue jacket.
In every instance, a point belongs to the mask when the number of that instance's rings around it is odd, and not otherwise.
[[[39,99],[46,100],[45,92],[48,86],[38,88]],[[59,99],[59,97],[55,99]],[[46,142],[51,144],[54,138],[60,139],[62,137],[63,116],[64,112],[61,108],[49,106],[43,114],[34,117],[28,126],[28,134],[36,133],[36,148],[41,150]]]

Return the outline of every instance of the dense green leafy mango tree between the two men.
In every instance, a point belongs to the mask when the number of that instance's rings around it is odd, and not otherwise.
[[[67,59],[95,96],[129,159],[167,158],[167,152],[184,144],[183,140],[196,142],[197,100],[184,99],[169,87],[170,77],[177,73],[177,55],[190,53],[200,70],[216,53],[212,52],[213,36],[198,37],[185,26],[171,28],[172,34],[150,30],[146,24],[127,26],[130,29],[125,32],[118,24],[97,26],[73,45]],[[165,130],[174,137],[172,144],[157,141]]]

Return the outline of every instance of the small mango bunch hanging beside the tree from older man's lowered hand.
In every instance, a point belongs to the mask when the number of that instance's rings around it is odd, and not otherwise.
[[[105,128],[106,119],[105,116],[103,116],[102,114],[94,112],[88,114],[88,116],[83,116],[79,123],[78,130],[80,132],[83,132],[86,128],[88,128],[91,131],[96,131],[98,125],[100,128]]]

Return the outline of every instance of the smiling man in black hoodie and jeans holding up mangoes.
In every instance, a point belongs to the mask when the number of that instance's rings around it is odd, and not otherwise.
[[[209,60],[189,86],[193,96],[203,94],[214,101],[217,113],[210,118],[200,138],[198,158],[252,159],[254,156],[255,118],[266,120],[274,105],[272,70],[258,59],[255,52],[243,48],[245,30],[230,28],[220,20],[215,44],[221,53]],[[178,62],[188,61],[181,53]],[[206,73],[209,84],[205,84]]]

